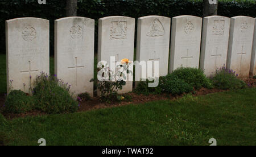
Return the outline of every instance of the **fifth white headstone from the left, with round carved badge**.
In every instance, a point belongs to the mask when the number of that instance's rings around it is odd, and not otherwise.
[[[170,73],[179,67],[199,68],[202,18],[172,18]]]

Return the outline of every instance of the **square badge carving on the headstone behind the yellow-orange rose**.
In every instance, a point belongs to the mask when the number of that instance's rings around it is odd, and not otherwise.
[[[126,39],[127,38],[127,22],[114,21],[111,22],[110,39]]]

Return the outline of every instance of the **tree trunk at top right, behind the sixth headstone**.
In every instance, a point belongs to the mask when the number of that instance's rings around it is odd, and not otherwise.
[[[203,0],[203,18],[205,16],[217,15],[218,0]]]

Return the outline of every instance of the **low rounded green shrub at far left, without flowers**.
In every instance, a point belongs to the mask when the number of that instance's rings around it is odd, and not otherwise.
[[[31,96],[21,90],[12,90],[5,101],[5,112],[26,113],[35,108],[34,100]]]

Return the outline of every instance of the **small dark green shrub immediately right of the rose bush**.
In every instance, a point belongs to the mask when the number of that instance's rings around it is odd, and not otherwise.
[[[162,80],[163,77],[159,77],[159,82]],[[155,88],[148,87],[148,83],[151,83],[154,81],[139,81],[137,84],[137,87],[135,88],[134,92],[137,94],[143,94],[148,96],[149,94],[161,94],[163,90],[160,88],[160,86],[156,86]]]

